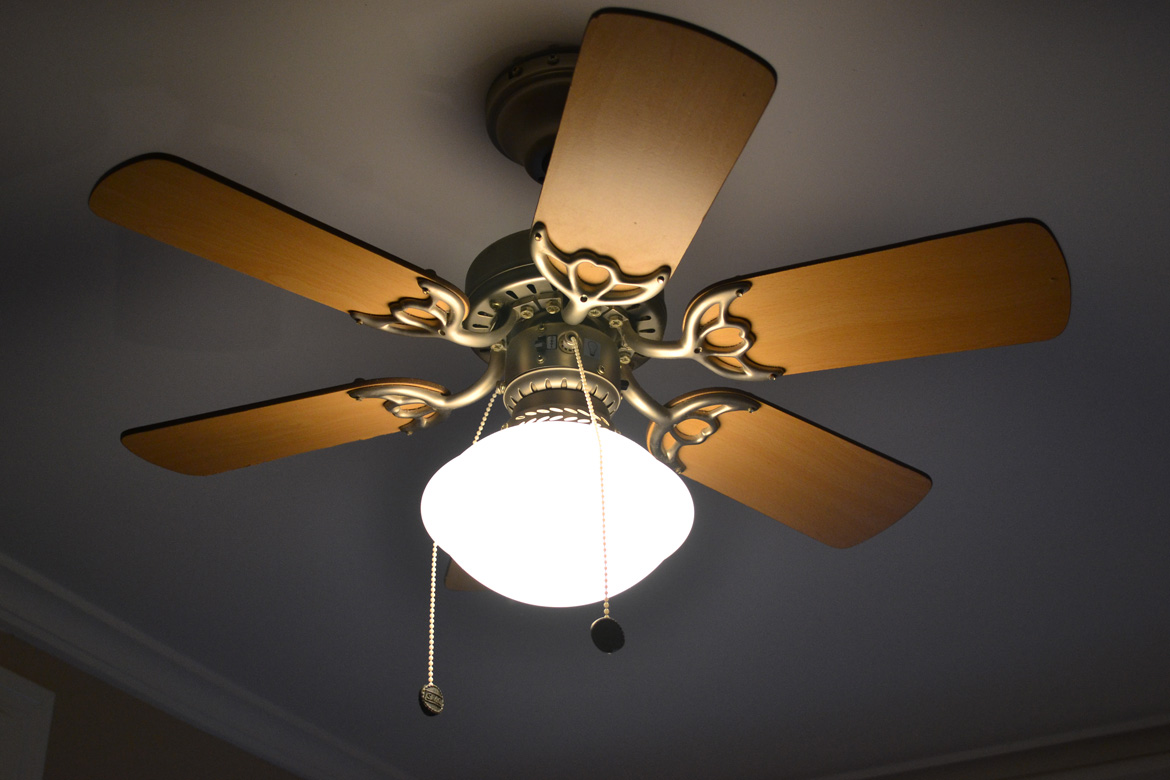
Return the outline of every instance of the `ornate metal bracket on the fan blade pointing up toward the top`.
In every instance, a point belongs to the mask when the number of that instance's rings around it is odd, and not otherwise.
[[[552,243],[543,222],[532,226],[530,246],[537,270],[565,296],[562,317],[570,325],[583,322],[591,309],[631,306],[649,301],[662,291],[670,278],[668,265],[647,276],[626,276],[612,257],[589,249],[572,254],[562,251]],[[605,278],[597,283],[586,282],[581,277],[585,269],[597,269]]]

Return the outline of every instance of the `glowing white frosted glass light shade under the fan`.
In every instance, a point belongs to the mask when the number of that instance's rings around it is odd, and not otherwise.
[[[601,429],[610,595],[638,584],[690,533],[695,506],[674,471]],[[482,439],[431,478],[422,524],[468,574],[538,607],[601,601],[597,437],[535,422]]]

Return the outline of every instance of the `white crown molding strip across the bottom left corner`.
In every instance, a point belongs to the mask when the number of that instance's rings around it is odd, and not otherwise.
[[[305,780],[413,780],[2,553],[0,628]]]

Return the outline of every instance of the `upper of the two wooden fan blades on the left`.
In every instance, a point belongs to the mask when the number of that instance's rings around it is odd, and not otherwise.
[[[129,160],[94,187],[98,216],[342,311],[385,313],[434,279],[397,257],[165,154]],[[448,283],[449,284],[449,283]]]

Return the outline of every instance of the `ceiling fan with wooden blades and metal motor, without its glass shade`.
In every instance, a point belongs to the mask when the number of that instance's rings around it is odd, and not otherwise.
[[[1005,222],[720,282],[666,339],[662,289],[775,85],[732,42],[618,9],[592,16],[579,51],[517,61],[489,90],[488,130],[543,188],[531,229],[488,247],[466,291],[184,160],[124,163],[90,195],[98,215],[365,325],[470,347],[487,370],[456,393],[358,381],[135,428],[123,443],[209,475],[431,428],[495,392],[510,426],[608,426],[625,400],[673,470],[825,544],[872,537],[929,477],[739,389],[661,403],[635,370],[688,358],[722,379],[768,380],[1047,339],[1068,319],[1068,274],[1047,228]],[[447,582],[469,586],[454,566]]]

